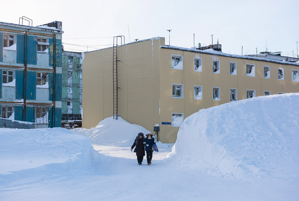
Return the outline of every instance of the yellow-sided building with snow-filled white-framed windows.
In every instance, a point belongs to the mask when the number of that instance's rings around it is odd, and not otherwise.
[[[165,46],[162,37],[124,44],[117,51],[118,114],[152,133],[159,124],[163,143],[175,143],[182,120],[200,109],[299,92],[296,63]],[[85,52],[82,87],[82,127],[89,129],[113,116],[112,47]]]

